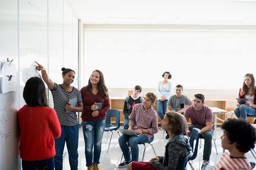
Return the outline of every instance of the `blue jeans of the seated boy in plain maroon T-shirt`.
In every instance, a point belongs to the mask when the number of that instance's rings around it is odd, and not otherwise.
[[[196,126],[194,124],[189,125],[189,131],[192,131],[193,128],[202,129],[205,126]],[[213,136],[213,129],[211,131],[206,131],[204,133],[201,133],[200,135],[204,137],[204,152],[203,152],[203,160],[210,160],[210,155],[212,152],[212,136]]]

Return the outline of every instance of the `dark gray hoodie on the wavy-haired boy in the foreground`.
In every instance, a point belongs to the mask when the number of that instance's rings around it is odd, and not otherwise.
[[[187,138],[182,134],[176,135],[166,144],[164,157],[158,156],[159,162],[153,160],[151,165],[158,170],[181,169],[183,158],[191,149]]]

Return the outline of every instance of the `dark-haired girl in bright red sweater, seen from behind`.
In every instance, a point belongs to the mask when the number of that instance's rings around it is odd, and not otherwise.
[[[22,169],[54,169],[54,137],[60,137],[61,128],[55,110],[47,105],[44,82],[30,78],[23,98],[27,105],[18,111]]]

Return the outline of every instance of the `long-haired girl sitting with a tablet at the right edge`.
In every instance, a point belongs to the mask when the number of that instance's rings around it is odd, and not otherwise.
[[[256,116],[256,89],[253,74],[246,74],[238,98],[245,99],[246,103],[237,103],[234,113],[237,118],[246,119],[247,115]]]

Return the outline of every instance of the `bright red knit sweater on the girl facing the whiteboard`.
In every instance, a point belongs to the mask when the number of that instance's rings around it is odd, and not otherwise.
[[[54,137],[60,137],[61,127],[53,108],[24,105],[18,111],[18,122],[23,160],[43,160],[56,154]]]

